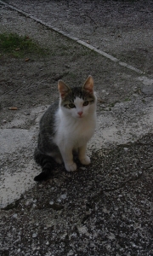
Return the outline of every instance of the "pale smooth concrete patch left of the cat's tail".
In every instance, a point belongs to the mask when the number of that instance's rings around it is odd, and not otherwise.
[[[22,129],[0,130],[0,207],[19,199],[34,184],[33,135],[33,131]]]

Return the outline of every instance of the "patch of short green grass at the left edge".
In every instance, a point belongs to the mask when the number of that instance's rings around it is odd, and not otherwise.
[[[14,57],[24,57],[27,54],[46,55],[47,49],[42,49],[28,36],[19,36],[16,33],[0,34],[0,54]]]

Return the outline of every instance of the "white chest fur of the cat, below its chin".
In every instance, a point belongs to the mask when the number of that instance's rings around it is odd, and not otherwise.
[[[58,146],[61,144],[65,147],[69,146],[72,149],[82,147],[93,136],[95,126],[95,112],[79,119],[65,115],[59,108],[56,113],[54,143]]]

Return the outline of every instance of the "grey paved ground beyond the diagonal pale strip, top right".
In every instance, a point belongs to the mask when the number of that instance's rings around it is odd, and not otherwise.
[[[152,1],[6,1],[152,75]]]

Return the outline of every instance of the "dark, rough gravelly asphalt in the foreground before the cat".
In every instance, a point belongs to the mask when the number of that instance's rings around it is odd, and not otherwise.
[[[1,210],[1,255],[153,255],[153,137],[94,154]]]

